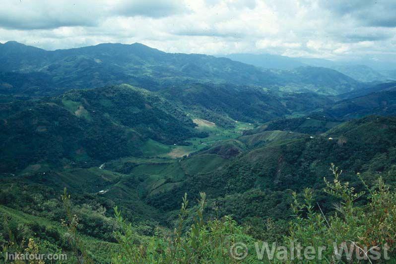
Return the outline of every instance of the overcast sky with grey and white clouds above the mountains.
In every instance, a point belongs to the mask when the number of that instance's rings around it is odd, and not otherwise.
[[[395,0],[1,0],[0,42],[396,61]]]

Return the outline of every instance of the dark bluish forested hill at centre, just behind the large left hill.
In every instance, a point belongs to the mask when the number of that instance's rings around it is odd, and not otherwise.
[[[232,122],[255,123],[289,113],[278,97],[258,88],[193,84],[164,89],[161,94],[200,116],[207,115],[205,119],[219,124],[221,121],[216,117],[228,118]]]

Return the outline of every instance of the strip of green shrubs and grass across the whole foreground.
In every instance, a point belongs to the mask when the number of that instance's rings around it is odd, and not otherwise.
[[[139,225],[129,223],[118,207],[114,208],[115,243],[101,242],[80,234],[79,216],[64,191],[62,202],[66,218],[62,225],[47,219],[20,213],[0,206],[3,216],[2,254],[20,252],[28,254],[67,254],[67,262],[57,263],[359,263],[364,256],[376,263],[387,263],[385,258],[396,257],[396,190],[384,184],[382,178],[368,186],[359,175],[365,191],[357,192],[348,182],[340,180],[340,171],[331,165],[332,180],[326,180],[324,192],[338,202],[338,213],[325,215],[319,203],[314,203],[313,190],[303,194],[293,193],[293,216],[285,235],[279,235],[273,222],[268,219],[262,240],[247,233],[230,216],[220,216],[215,205],[215,216],[206,217],[208,201],[200,193],[198,203],[190,207],[185,194],[175,229],[157,229],[155,235],[139,235]],[[357,205],[357,200],[366,202]],[[364,217],[362,215],[364,214]],[[189,218],[193,217],[192,222]],[[191,218],[190,218],[191,219]],[[15,224],[25,228],[15,228]],[[255,227],[253,227],[255,228]],[[36,232],[34,232],[36,231]],[[37,233],[39,232],[39,234]],[[67,237],[51,243],[52,236]],[[38,237],[40,236],[40,238]],[[260,253],[263,243],[268,251]],[[273,248],[275,246],[283,246]],[[334,252],[345,247],[349,251]],[[298,245],[298,247],[293,247]],[[304,254],[306,247],[314,252]],[[259,252],[257,251],[259,247]],[[299,247],[302,248],[302,252]],[[325,247],[323,249],[323,247]],[[386,247],[387,253],[384,254]],[[315,251],[322,248],[321,253]],[[261,249],[261,250],[260,250]],[[370,251],[370,249],[373,249]],[[350,252],[351,254],[348,254]],[[292,258],[291,256],[294,256]],[[308,257],[307,257],[308,256]],[[380,258],[378,258],[378,256]],[[368,260],[368,259],[366,259]],[[34,263],[34,262],[30,262]],[[39,263],[39,262],[38,262]],[[390,262],[392,263],[392,262]]]

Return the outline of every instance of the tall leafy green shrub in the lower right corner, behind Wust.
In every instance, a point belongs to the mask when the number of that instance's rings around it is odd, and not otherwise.
[[[328,182],[325,179],[325,192],[339,200],[336,212],[330,217],[325,216],[319,204],[320,211],[316,211],[312,191],[309,189],[304,191],[303,202],[298,201],[294,193],[292,208],[295,219],[291,222],[290,236],[287,238],[289,243],[301,243],[302,247],[327,246],[324,252],[326,263],[336,259],[355,263],[365,255],[372,255],[374,251],[383,251],[385,247],[389,248],[389,256],[393,256],[396,234],[395,190],[386,186],[382,178],[378,179],[373,188],[363,182],[368,191],[368,203],[355,206],[356,200],[362,198],[364,192],[355,192],[348,182],[342,183],[339,180],[342,171],[334,165],[331,166],[331,171],[334,180]],[[341,250],[334,251],[332,243],[336,243],[338,249],[346,245],[347,249],[353,251],[353,255],[349,256]]]

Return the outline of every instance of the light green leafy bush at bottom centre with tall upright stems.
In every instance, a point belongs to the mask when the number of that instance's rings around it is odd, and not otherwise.
[[[116,237],[122,251],[113,257],[113,263],[234,263],[228,250],[236,242],[252,242],[230,217],[204,222],[203,211],[206,195],[200,193],[200,200],[191,228],[183,236],[183,225],[188,214],[187,194],[183,198],[179,222],[174,232],[167,236],[155,236],[140,245],[134,243],[133,227],[127,224],[116,209],[116,218],[122,232]]]

